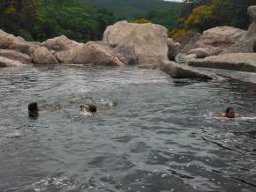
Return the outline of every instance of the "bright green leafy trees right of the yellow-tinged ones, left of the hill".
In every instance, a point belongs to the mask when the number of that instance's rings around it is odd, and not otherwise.
[[[80,0],[43,1],[40,12],[43,39],[64,34],[76,41],[99,40],[106,26],[116,20],[109,11]]]

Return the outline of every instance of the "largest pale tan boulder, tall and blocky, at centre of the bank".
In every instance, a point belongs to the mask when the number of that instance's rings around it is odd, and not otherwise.
[[[119,21],[107,27],[103,41],[124,55],[129,63],[161,63],[168,60],[167,32],[160,25]]]

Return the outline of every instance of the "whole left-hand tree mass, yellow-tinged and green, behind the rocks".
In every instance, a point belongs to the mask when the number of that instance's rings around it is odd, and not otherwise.
[[[0,28],[43,41],[61,34],[76,41],[99,40],[116,18],[80,0],[0,0]]]

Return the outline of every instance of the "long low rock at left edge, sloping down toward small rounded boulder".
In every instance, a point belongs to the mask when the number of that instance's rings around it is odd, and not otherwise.
[[[32,59],[29,55],[19,53],[15,50],[0,49],[0,56],[19,61],[21,63],[32,63]]]

